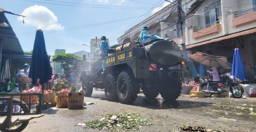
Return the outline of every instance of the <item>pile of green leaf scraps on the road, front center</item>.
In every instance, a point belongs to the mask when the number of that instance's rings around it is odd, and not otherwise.
[[[138,113],[111,113],[106,114],[105,117],[101,119],[96,119],[93,121],[85,122],[87,129],[106,129],[109,131],[135,131],[141,130],[141,126],[150,126],[147,118],[144,118]]]

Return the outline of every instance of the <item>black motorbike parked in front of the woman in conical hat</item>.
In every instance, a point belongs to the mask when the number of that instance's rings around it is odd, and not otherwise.
[[[230,74],[223,74],[220,76],[220,80],[202,77],[200,78],[200,91],[206,94],[207,97],[211,97],[214,94],[226,93],[229,89],[234,98],[241,98],[243,96],[243,89],[240,87],[240,84],[233,81],[230,76]]]

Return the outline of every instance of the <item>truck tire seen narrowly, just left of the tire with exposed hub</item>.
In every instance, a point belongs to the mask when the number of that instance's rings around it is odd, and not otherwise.
[[[116,83],[116,78],[113,75],[108,74],[106,76],[104,92],[108,101],[118,101]]]

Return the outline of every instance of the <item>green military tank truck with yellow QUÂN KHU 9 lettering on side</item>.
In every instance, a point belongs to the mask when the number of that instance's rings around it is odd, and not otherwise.
[[[188,67],[186,51],[174,42],[164,39],[147,39],[109,48],[102,73],[101,58],[91,62],[91,69],[81,73],[80,80],[86,97],[93,88],[104,89],[109,101],[133,103],[143,90],[146,98],[178,99],[181,79]]]

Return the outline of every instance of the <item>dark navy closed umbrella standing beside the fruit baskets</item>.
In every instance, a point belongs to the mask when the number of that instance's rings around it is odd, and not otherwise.
[[[38,85],[39,83],[43,85],[52,79],[51,65],[47,56],[42,30],[36,31],[29,78],[33,85]]]

